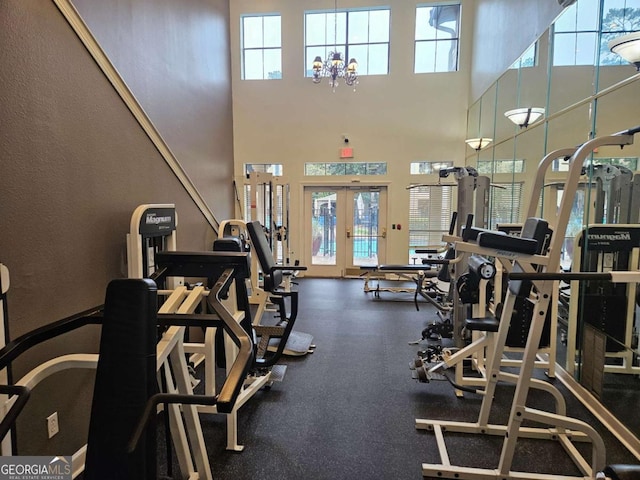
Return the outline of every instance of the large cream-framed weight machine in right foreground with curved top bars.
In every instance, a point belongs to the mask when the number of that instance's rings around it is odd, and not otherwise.
[[[440,463],[423,463],[423,476],[471,480],[540,480],[555,478],[584,480],[595,479],[597,473],[605,467],[604,442],[598,432],[586,422],[567,415],[564,399],[555,387],[547,382],[533,378],[542,331],[546,322],[547,312],[550,309],[553,292],[557,289],[557,282],[554,279],[526,281],[517,279],[517,276],[511,274],[533,274],[537,272],[555,274],[558,272],[573,196],[578,187],[585,159],[591,155],[594,149],[602,146],[617,145],[623,147],[632,144],[633,137],[638,132],[640,132],[640,127],[594,138],[587,141],[577,150],[564,149],[546,155],[538,168],[527,210],[527,220],[520,237],[484,231],[478,232],[475,243],[464,239],[455,241],[456,252],[464,251],[469,254],[498,258],[503,268],[509,273],[510,278],[498,329],[495,332],[493,351],[487,358],[487,381],[481,390],[483,399],[478,420],[476,422],[435,419],[416,420],[416,428],[426,429],[435,433],[441,458]],[[542,193],[545,173],[553,160],[567,156],[570,157],[570,166],[565,195],[557,214],[547,223],[534,217]],[[544,248],[541,248],[541,242],[546,243]],[[613,273],[608,275],[613,275]],[[524,301],[532,304],[532,317],[519,374],[515,375],[503,370],[501,361],[517,298],[523,298]],[[446,368],[446,365],[439,364],[430,369],[430,372],[437,373],[443,368]],[[506,425],[489,423],[489,415],[493,407],[494,394],[499,381],[515,384],[515,392]],[[527,407],[527,396],[531,388],[540,389],[551,394],[555,400],[555,411],[546,412]],[[542,428],[526,427],[523,425],[525,421],[534,421],[545,426]],[[502,437],[503,445],[498,465],[496,468],[491,469],[453,465],[447,452],[445,432]],[[537,438],[558,442],[580,470],[581,475],[558,477],[549,473],[513,471],[513,458],[519,438]],[[591,443],[590,460],[586,460],[575,447],[573,442],[576,441]]]

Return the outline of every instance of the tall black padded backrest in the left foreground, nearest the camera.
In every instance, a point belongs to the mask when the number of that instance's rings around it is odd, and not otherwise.
[[[107,287],[85,480],[156,478],[153,422],[133,453],[127,444],[157,392],[157,309],[152,280],[119,279]]]

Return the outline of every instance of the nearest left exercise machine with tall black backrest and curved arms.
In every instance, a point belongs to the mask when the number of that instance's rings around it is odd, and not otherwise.
[[[207,260],[209,260],[207,262]],[[205,259],[211,264],[211,259]],[[245,258],[220,256],[223,271],[208,301],[223,312],[222,293],[230,282],[248,274]],[[157,277],[163,283],[162,275]],[[175,300],[174,296],[174,300]],[[183,298],[187,304],[193,294]],[[73,456],[73,478],[84,471],[87,480],[155,479],[157,406],[163,404],[171,415],[176,454],[185,478],[212,479],[197,410],[198,404],[216,405],[231,411],[242,389],[253,358],[253,344],[247,333],[228,312],[221,315],[191,315],[174,303],[171,314],[158,313],[157,287],[150,279],[118,279],[107,287],[104,307],[68,317],[28,332],[0,350],[4,369],[25,351],[42,342],[80,327],[102,326],[100,354],[69,354],[53,358],[25,375],[15,384],[3,384],[3,393],[13,390],[4,404],[0,437],[4,438],[24,407],[31,389],[49,375],[69,368],[96,368],[89,436],[86,447]],[[238,355],[219,392],[212,396],[190,391],[181,331],[191,325],[224,328],[238,347]],[[164,331],[158,341],[158,329]],[[157,370],[165,362],[165,380],[170,392],[157,393]],[[4,452],[3,452],[4,453]]]

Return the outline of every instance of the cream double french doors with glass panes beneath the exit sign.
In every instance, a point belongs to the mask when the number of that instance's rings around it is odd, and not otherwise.
[[[307,274],[343,277],[384,263],[386,187],[305,187]]]

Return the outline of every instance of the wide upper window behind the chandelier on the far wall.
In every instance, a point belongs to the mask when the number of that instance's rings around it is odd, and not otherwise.
[[[326,60],[336,50],[348,62],[355,58],[358,75],[389,73],[389,9],[323,11],[305,13],[305,68],[317,56]]]

